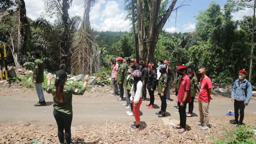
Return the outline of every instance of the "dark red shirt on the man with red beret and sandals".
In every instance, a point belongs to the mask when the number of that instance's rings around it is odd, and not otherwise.
[[[185,100],[185,103],[191,102],[191,91],[190,91],[190,78],[188,75],[184,76],[183,78],[180,78],[180,86],[178,90],[178,101],[181,103],[184,99],[186,90],[189,90],[187,99]]]

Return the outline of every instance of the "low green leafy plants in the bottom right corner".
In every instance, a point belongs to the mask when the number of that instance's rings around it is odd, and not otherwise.
[[[253,135],[253,129],[249,125],[240,125],[235,132],[231,131],[224,139],[217,140],[216,144],[256,144]]]

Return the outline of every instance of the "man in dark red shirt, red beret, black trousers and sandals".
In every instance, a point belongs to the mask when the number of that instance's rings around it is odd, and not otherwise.
[[[190,93],[190,78],[187,75],[187,68],[182,65],[178,67],[179,75],[182,76],[180,78],[179,92],[176,98],[176,102],[179,106],[180,113],[180,125],[173,126],[175,129],[180,129],[179,133],[183,133],[186,131],[186,107],[187,103],[191,102],[191,93]]]

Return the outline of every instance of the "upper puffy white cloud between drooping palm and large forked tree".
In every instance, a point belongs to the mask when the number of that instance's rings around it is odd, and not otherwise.
[[[114,17],[117,13],[121,12],[119,9],[119,4],[116,1],[108,1],[106,4],[105,9],[102,11],[101,18],[112,18]]]

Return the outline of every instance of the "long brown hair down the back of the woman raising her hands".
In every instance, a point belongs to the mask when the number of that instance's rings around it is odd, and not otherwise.
[[[65,85],[65,79],[56,79],[54,86],[56,87],[55,101],[57,103],[63,102],[63,89]]]

